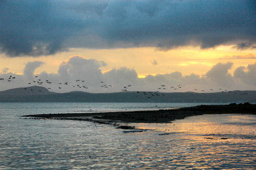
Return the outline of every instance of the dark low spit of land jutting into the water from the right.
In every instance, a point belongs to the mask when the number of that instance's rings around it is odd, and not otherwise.
[[[256,104],[199,105],[157,111],[67,113],[25,115],[33,119],[79,120],[108,124],[121,129],[135,129],[129,123],[171,123],[173,120],[204,114],[256,114]],[[137,129],[139,130],[139,129]]]

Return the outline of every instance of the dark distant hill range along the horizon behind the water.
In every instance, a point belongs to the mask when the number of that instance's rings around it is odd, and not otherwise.
[[[170,102],[170,103],[256,103],[256,91],[216,93],[127,91],[116,93],[50,92],[32,86],[0,91],[0,102]]]

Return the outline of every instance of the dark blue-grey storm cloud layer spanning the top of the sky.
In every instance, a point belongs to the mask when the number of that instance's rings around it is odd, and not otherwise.
[[[256,43],[251,1],[1,1],[0,50],[51,55],[70,47]]]

